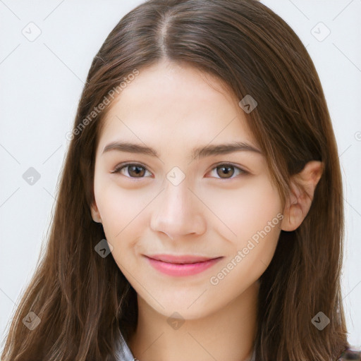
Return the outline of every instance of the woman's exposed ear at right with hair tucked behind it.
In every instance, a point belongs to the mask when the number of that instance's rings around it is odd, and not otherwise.
[[[281,221],[282,231],[295,231],[310,210],[314,190],[322,176],[323,163],[309,161],[300,173],[291,177],[291,194],[286,200]]]

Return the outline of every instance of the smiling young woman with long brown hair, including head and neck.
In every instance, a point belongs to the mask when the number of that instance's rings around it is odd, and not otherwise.
[[[329,111],[267,6],[137,6],[94,57],[68,139],[2,360],[360,357]]]

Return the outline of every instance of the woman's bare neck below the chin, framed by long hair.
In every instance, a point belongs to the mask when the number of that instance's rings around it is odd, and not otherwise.
[[[140,361],[249,361],[255,341],[259,284],[200,319],[185,319],[173,329],[168,317],[138,301],[138,322],[129,340],[130,350]]]

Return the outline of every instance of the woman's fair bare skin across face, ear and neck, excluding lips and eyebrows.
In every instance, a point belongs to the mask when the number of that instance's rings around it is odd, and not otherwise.
[[[210,75],[161,61],[140,71],[109,109],[96,152],[92,217],[102,222],[112,247],[108,257],[137,292],[138,325],[129,345],[140,361],[248,360],[258,279],[271,262],[281,229],[300,226],[310,209],[322,174],[318,161],[295,176],[310,197],[294,185],[282,207],[263,154],[190,158],[200,145],[243,141],[258,148],[238,101]],[[153,147],[159,157],[102,153],[118,140]],[[111,173],[126,161],[145,167],[140,176],[129,166]],[[217,171],[216,165],[230,163],[247,173]],[[178,185],[166,177],[175,166],[185,176]],[[252,235],[277,214],[283,219],[212,284],[212,276],[234,263]],[[176,277],[162,274],[144,257],[159,253],[223,258],[200,274]],[[173,312],[181,315],[178,328],[169,321]]]

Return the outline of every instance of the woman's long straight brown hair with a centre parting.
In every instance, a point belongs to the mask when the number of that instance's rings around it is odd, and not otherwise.
[[[281,231],[260,278],[255,360],[336,360],[350,345],[341,302],[343,190],[334,131],[302,42],[254,0],[146,1],[106,38],[78,105],[47,249],[13,317],[3,360],[116,360],[118,332],[127,339],[135,331],[135,290],[113,257],[94,251],[105,238],[90,212],[94,152],[111,105],[92,112],[114,89],[120,93],[124,78],[163,58],[216,75],[237,99],[250,94],[257,101],[245,116],[283,204],[290,176],[307,161],[323,162],[310,212],[295,231]],[[30,311],[41,319],[31,331],[22,322]],[[322,331],[312,322],[319,312],[330,320]]]

